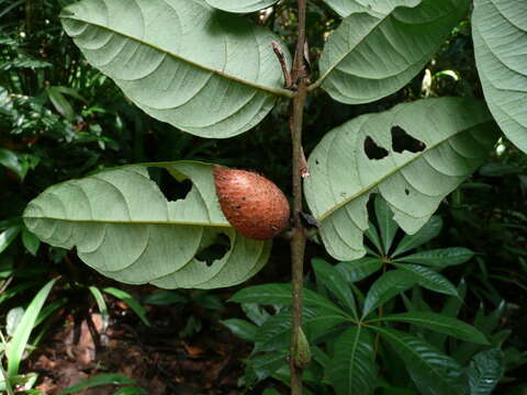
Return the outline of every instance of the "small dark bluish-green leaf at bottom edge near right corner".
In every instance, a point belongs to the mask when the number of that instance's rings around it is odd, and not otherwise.
[[[491,349],[475,354],[470,361],[468,374],[470,395],[491,395],[505,374],[503,351]]]

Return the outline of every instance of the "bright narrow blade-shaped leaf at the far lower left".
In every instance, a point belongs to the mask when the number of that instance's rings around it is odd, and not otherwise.
[[[5,357],[8,359],[8,376],[13,376],[19,373],[22,354],[24,353],[25,346],[30,340],[31,331],[33,330],[33,326],[35,325],[38,314],[41,313],[44,302],[52,291],[55,281],[56,280],[49,281],[42,287],[41,291],[38,291],[25,309],[24,316],[22,317],[20,324],[16,326],[12,340],[9,343],[8,351],[5,352]]]

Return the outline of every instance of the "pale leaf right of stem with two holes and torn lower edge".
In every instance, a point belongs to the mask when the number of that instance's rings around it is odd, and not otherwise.
[[[484,103],[441,98],[400,104],[333,129],[311,154],[305,195],[327,251],[365,255],[366,204],[380,194],[407,234],[485,159],[497,127]]]

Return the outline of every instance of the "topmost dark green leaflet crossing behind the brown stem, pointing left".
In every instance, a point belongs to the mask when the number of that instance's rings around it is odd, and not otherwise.
[[[304,289],[303,294],[303,302],[306,306],[319,307],[324,312],[333,312],[343,317],[347,316],[340,307],[316,292]],[[229,302],[290,306],[292,302],[292,289],[291,284],[248,286],[236,292],[233,297],[229,298]]]

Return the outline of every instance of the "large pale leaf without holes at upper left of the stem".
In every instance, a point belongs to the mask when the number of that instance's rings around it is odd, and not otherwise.
[[[279,38],[204,0],[82,0],[60,16],[137,106],[194,135],[238,135],[292,95],[271,47]]]

